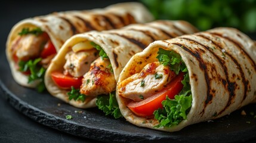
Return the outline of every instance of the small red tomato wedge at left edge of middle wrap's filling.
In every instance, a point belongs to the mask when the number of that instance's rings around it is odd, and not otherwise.
[[[54,80],[56,85],[62,89],[71,89],[71,86],[74,88],[80,88],[82,85],[82,77],[65,75],[59,71],[51,73],[51,78]]]

